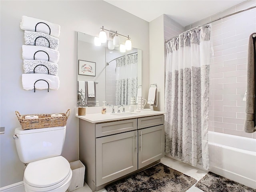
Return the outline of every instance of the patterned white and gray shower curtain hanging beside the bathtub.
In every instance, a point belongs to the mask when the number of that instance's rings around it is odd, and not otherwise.
[[[186,31],[167,46],[165,152],[208,170],[210,26]]]

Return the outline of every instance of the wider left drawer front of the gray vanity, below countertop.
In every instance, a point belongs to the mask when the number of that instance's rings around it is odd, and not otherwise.
[[[96,137],[102,137],[137,129],[137,119],[129,119],[95,125]]]

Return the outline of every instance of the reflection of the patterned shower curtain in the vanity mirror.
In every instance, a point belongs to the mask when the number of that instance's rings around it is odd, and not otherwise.
[[[138,54],[116,59],[116,105],[129,105],[137,96]]]

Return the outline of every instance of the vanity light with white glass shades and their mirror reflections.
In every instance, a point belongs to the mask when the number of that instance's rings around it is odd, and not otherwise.
[[[125,41],[125,45],[122,46],[122,51],[124,51],[124,47],[125,50],[131,50],[132,49],[132,41],[130,40],[129,35],[128,36],[124,36],[122,34],[118,34],[117,31],[116,32],[112,32],[110,30],[104,29],[104,26],[102,26],[102,28],[100,28],[100,34],[99,34],[99,39],[100,39],[100,43],[105,43],[107,40],[107,36],[106,36],[106,31],[108,31],[110,33],[110,38],[113,38],[113,41],[108,41],[108,49],[113,50],[114,47],[119,47],[120,46],[120,36],[126,37],[127,40]],[[97,42],[97,45],[95,43],[95,41]],[[98,40],[95,40],[94,38],[94,44],[96,46],[100,46],[100,44],[98,42]],[[125,52],[125,51],[124,51]]]

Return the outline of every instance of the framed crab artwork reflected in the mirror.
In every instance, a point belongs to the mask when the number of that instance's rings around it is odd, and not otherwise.
[[[78,60],[78,75],[96,76],[96,62]]]

